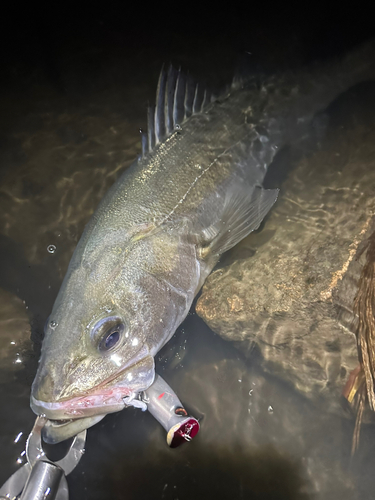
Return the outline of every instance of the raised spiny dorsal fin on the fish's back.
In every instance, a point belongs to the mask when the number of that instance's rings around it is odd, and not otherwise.
[[[213,100],[189,75],[171,65],[160,72],[156,104],[147,112],[147,133],[142,133],[142,156],[170,135],[191,115],[201,113]]]

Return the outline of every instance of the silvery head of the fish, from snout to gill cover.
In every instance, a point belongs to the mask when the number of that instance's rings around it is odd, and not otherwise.
[[[32,385],[37,414],[66,420],[119,411],[124,397],[154,381],[154,355],[174,332],[173,306],[149,273],[110,264],[103,257],[89,269],[72,265],[64,280]]]

